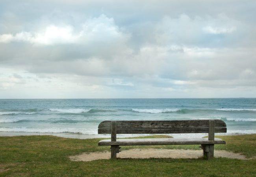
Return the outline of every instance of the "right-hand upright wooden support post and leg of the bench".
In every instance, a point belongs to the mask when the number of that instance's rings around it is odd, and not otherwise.
[[[208,140],[214,140],[214,120],[209,120]],[[214,144],[201,144],[204,158],[210,160],[214,156]]]

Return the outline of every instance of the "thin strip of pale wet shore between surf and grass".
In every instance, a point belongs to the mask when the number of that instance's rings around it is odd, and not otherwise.
[[[215,133],[216,135],[251,135],[254,133]],[[32,136],[32,135],[52,135],[58,136],[62,138],[74,138],[74,139],[92,139],[92,138],[110,138],[111,135],[89,135],[89,134],[81,134],[81,133],[36,133],[36,132],[0,132],[0,136]],[[189,133],[189,134],[163,134],[173,136],[173,138],[202,138],[204,136],[208,136],[208,133]],[[117,135],[117,138],[128,138],[128,137],[135,137],[135,136],[150,136],[146,134],[138,134],[138,135]]]

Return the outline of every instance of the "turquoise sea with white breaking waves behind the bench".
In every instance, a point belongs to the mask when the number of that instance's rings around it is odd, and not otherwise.
[[[256,98],[0,100],[0,132],[96,135],[103,120],[221,119],[256,133]]]

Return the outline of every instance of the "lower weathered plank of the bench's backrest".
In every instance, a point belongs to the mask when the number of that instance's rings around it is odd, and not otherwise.
[[[174,134],[174,133],[208,133],[209,128],[180,129],[117,129],[117,134]],[[226,133],[226,127],[215,127],[215,133]],[[111,134],[111,129],[98,129],[98,134]]]

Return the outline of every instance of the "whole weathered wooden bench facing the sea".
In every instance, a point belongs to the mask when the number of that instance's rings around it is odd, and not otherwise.
[[[208,138],[140,138],[117,139],[117,134],[208,133]],[[101,140],[99,146],[111,146],[111,159],[117,158],[119,146],[200,144],[205,158],[212,159],[214,144],[226,144],[214,138],[214,133],[226,133],[222,120],[163,120],[163,121],[103,121],[98,134],[111,134],[111,140]]]

